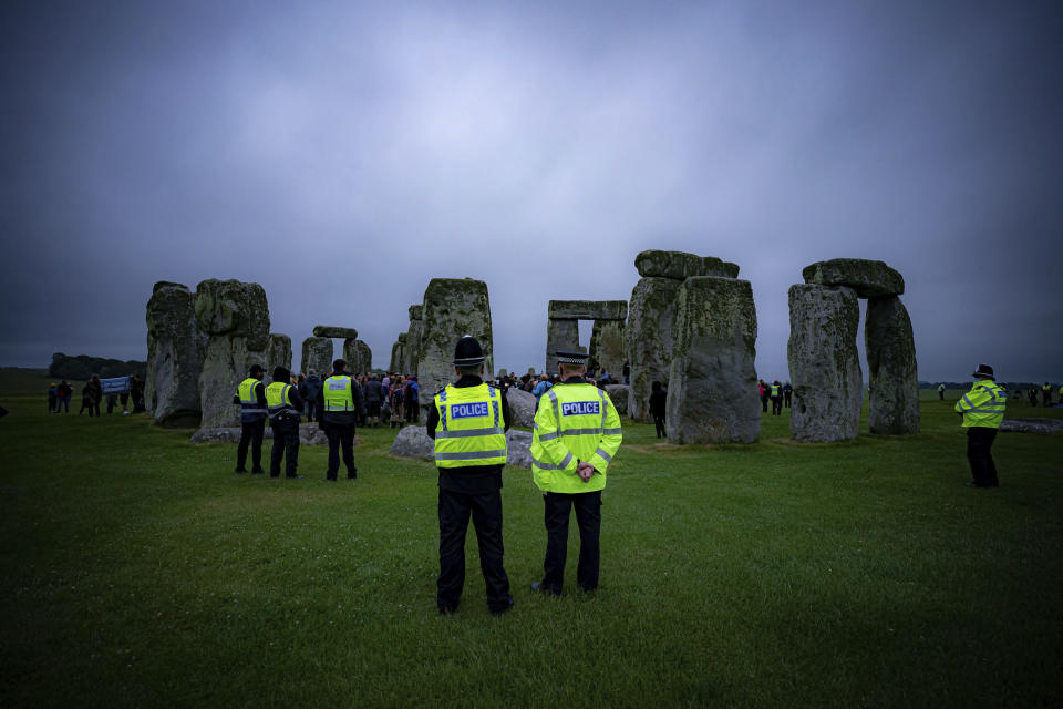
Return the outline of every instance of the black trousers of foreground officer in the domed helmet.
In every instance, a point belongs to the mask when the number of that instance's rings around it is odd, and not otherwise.
[[[479,569],[487,589],[487,607],[509,607],[509,577],[502,564],[502,492],[467,494],[440,487],[440,577],[436,604],[453,610],[465,586],[465,531],[472,515],[479,546]]]

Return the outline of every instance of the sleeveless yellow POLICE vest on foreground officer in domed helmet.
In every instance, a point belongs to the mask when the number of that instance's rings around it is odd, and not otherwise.
[[[446,388],[432,399],[440,414],[435,430],[438,467],[505,465],[506,432],[502,393],[491,384]]]

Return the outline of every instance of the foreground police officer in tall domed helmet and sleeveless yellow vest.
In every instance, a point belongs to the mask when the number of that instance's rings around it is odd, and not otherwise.
[[[502,544],[502,469],[507,455],[509,405],[498,389],[484,383],[484,360],[476,338],[461,338],[454,349],[458,380],[437,391],[429,410],[426,431],[435,440],[440,471],[436,605],[441,615],[457,609],[465,586],[469,515],[476,527],[487,608],[500,615],[513,607]]]

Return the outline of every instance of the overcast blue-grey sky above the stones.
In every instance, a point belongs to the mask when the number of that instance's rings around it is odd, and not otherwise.
[[[1057,8],[9,0],[0,364],[145,359],[155,281],[237,278],[297,363],[328,323],[385,367],[471,276],[524,371],[548,300],[664,248],[741,266],[764,378],[801,269],[857,257],[904,274],[920,379],[1059,380]]]

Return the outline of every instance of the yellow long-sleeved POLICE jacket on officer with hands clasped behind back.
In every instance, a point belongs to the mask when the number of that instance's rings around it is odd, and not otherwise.
[[[556,384],[535,413],[530,452],[536,486],[559,493],[603,489],[622,440],[620,415],[605,391],[588,383]],[[600,474],[585,483],[576,474],[577,461],[590,463]]]

